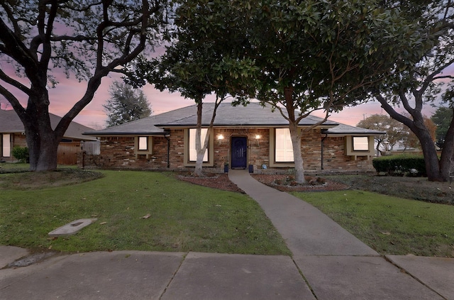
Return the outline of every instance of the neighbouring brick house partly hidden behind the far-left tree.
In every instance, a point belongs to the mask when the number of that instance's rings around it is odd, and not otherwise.
[[[55,128],[61,118],[52,113],[49,116],[52,128]],[[81,142],[86,140],[96,141],[96,138],[82,135],[82,133],[88,130],[93,130],[93,128],[75,122],[70,123],[65,136],[58,146],[57,163],[59,165],[76,165],[77,153],[82,151]],[[23,123],[16,111],[0,110],[0,138],[0,160],[4,162],[16,161],[16,158],[11,154],[11,150],[13,150],[14,146],[27,146]]]

